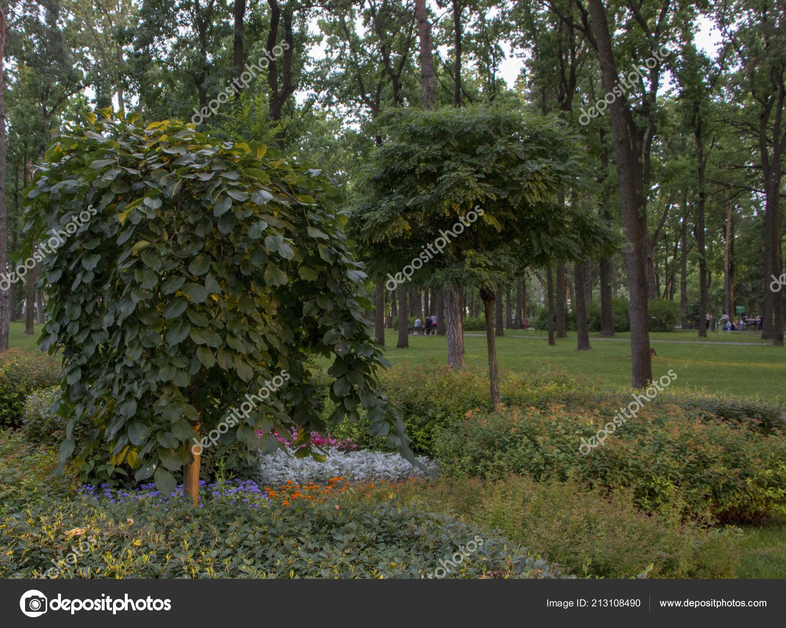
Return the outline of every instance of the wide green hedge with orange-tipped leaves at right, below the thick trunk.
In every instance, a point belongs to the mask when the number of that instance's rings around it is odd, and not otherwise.
[[[755,521],[786,512],[786,442],[722,421],[692,416],[671,404],[645,406],[608,435],[604,446],[579,454],[612,421],[619,402],[583,411],[507,408],[468,413],[440,432],[435,450],[451,476],[499,479],[510,473],[608,489],[631,487],[636,504],[657,512],[678,501],[686,516]]]

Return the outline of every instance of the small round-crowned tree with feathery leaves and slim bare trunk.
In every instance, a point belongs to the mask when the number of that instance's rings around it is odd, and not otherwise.
[[[447,241],[439,254],[426,254],[413,281],[479,288],[496,407],[496,286],[524,266],[586,259],[617,241],[586,207],[557,202],[557,192],[582,185],[583,152],[558,120],[500,106],[409,110],[381,132],[360,186],[365,199],[352,214],[354,233],[377,255],[399,260]],[[445,237],[448,230],[459,233]]]

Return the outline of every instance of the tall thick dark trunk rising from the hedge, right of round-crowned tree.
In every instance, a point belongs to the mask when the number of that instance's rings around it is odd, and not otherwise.
[[[603,87],[613,93],[618,73],[612,52],[612,38],[608,33],[608,20],[601,0],[588,0],[592,17],[598,58],[601,63]],[[619,89],[619,87],[618,87]],[[633,251],[626,253],[628,292],[630,294],[630,378],[634,388],[645,387],[652,380],[652,362],[649,352],[647,311],[647,211],[644,200],[644,180],[641,174],[641,152],[631,145],[631,129],[627,126],[630,114],[623,109],[624,98],[616,98],[610,105],[610,119],[614,135],[614,150],[619,185],[619,205],[623,229]]]

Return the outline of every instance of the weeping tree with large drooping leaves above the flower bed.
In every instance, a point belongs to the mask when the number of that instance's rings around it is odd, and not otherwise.
[[[362,316],[341,195],[320,171],[192,124],[102,110],[53,142],[27,198],[24,255],[51,238],[40,342],[64,359],[61,470],[99,454],[169,493],[183,469],[196,501],[200,432],[218,429],[253,457],[278,446],[274,430],[308,443],[361,407],[413,459],[376,377],[387,362]],[[319,355],[335,378],[327,424],[310,366]],[[257,395],[281,371],[290,379]],[[222,419],[237,426],[222,431]],[[78,442],[75,426],[89,436]],[[309,454],[322,457],[298,452]]]

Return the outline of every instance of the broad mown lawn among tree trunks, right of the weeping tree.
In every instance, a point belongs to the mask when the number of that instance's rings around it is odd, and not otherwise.
[[[486,338],[481,332],[465,335],[465,360],[469,366],[487,368]],[[531,369],[564,369],[579,380],[609,388],[630,386],[630,340],[590,339],[592,351],[575,351],[575,332],[549,347],[545,334],[527,334],[510,330],[498,337],[497,358],[501,370],[526,372]],[[477,335],[474,335],[477,334]],[[513,337],[516,336],[523,337]],[[678,380],[675,391],[704,390],[727,395],[755,395],[769,401],[780,400],[786,389],[786,348],[750,345],[714,344],[726,342],[729,333],[710,332],[707,341],[699,342],[696,332],[650,334],[652,340],[695,340],[691,343],[652,343],[657,357],[652,358],[652,375],[659,377],[674,369]],[[722,340],[718,340],[718,338]],[[740,332],[744,342],[755,342],[758,335]],[[445,336],[410,336],[410,347],[396,349],[397,333],[385,332],[385,356],[391,364],[409,362],[427,365],[445,364]]]

